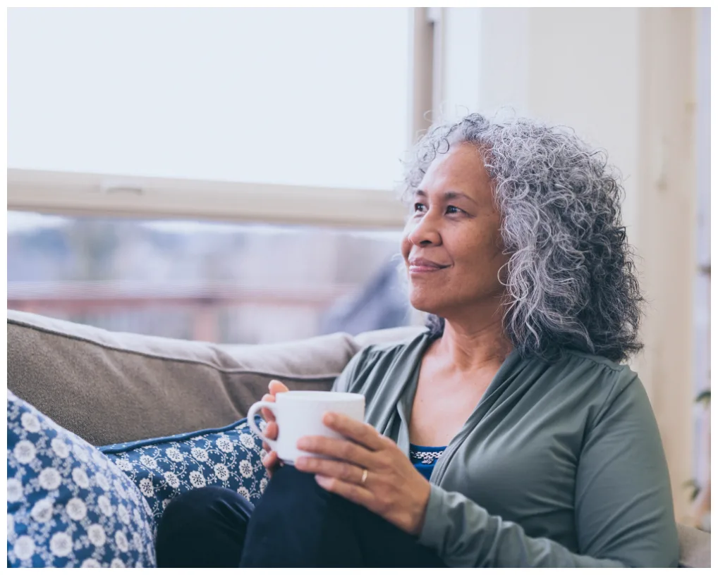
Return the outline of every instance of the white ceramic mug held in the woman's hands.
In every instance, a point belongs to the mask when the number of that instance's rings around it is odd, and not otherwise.
[[[261,408],[274,413],[279,426],[279,437],[267,439],[257,427],[254,417]],[[267,442],[285,463],[294,465],[300,455],[320,457],[297,449],[297,441],[306,435],[323,435],[341,439],[342,436],[322,423],[327,412],[348,415],[364,421],[364,396],[339,391],[285,391],[276,394],[275,401],[257,401],[247,412],[249,427]]]

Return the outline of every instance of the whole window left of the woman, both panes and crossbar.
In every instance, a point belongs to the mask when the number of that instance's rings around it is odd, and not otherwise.
[[[412,9],[11,9],[8,307],[269,343],[409,322]]]

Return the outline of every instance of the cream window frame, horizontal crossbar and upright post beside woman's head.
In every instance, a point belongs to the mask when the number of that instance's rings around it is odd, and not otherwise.
[[[409,11],[407,147],[429,126],[442,9]],[[401,229],[406,208],[392,190],[170,179],[8,168],[7,209],[68,216],[262,222]]]

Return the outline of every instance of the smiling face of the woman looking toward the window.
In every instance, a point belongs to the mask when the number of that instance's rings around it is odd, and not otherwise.
[[[498,272],[508,262],[500,221],[480,151],[461,143],[439,154],[414,194],[401,241],[411,305],[444,318],[498,308]]]

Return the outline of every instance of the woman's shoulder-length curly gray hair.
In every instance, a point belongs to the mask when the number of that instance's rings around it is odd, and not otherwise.
[[[567,348],[623,361],[640,351],[643,297],[620,220],[623,188],[605,153],[572,130],[528,119],[492,122],[479,114],[432,127],[406,163],[411,201],[429,164],[474,143],[494,184],[510,259],[503,330],[522,356],[548,361]],[[444,319],[429,315],[434,337]]]

